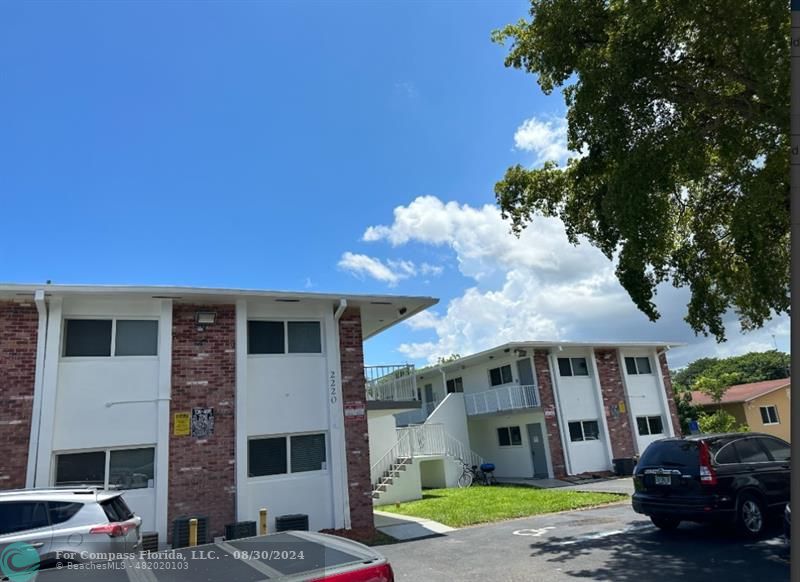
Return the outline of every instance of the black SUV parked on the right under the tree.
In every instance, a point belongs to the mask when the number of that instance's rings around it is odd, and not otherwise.
[[[789,502],[791,447],[762,433],[726,433],[652,443],[634,470],[633,509],[656,527],[729,522],[748,537]]]

